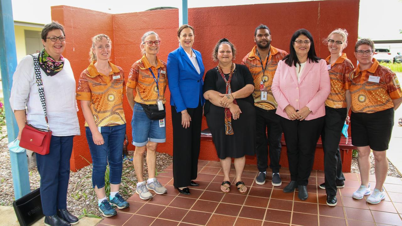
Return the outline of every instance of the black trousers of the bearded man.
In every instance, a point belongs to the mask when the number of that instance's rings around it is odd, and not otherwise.
[[[272,173],[279,173],[279,160],[281,158],[282,127],[279,123],[281,116],[276,114],[276,109],[265,110],[255,107],[256,112],[256,154],[258,171],[265,172],[269,167]],[[267,137],[268,135],[268,137]]]

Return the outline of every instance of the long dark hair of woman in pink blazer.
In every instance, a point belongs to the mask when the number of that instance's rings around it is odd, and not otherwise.
[[[295,48],[293,47],[293,43],[294,43],[294,41],[296,41],[296,39],[297,39],[297,37],[299,37],[299,35],[306,35],[306,37],[308,37],[308,39],[310,39],[310,42],[311,42],[310,50],[307,53],[307,60],[310,62],[318,63],[321,60],[321,58],[319,58],[316,55],[316,50],[314,49],[313,36],[306,29],[299,29],[299,30],[295,31],[295,33],[293,33],[292,38],[290,39],[290,45],[289,45],[290,53],[289,53],[289,55],[287,55],[283,58],[283,60],[285,61],[285,64],[287,64],[289,67],[296,66],[296,64],[300,64],[299,59],[297,59]]]

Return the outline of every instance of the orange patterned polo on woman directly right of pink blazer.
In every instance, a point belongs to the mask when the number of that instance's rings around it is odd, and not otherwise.
[[[329,65],[331,56],[325,61]],[[325,106],[332,108],[347,107],[345,92],[349,89],[349,73],[353,71],[353,64],[347,58],[346,53],[343,53],[334,64],[331,64],[331,69],[328,70],[331,80],[331,92],[328,99],[325,101]]]

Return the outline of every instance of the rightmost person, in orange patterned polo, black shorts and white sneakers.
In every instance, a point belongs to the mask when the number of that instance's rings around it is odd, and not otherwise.
[[[385,199],[384,181],[388,172],[386,150],[394,125],[394,111],[402,102],[402,90],[395,73],[379,65],[373,58],[374,43],[360,39],[355,45],[355,57],[359,65],[349,74],[352,98],[351,130],[352,144],[359,151],[361,185],[353,198],[371,204]],[[375,188],[371,193],[369,184],[370,152],[375,159]]]

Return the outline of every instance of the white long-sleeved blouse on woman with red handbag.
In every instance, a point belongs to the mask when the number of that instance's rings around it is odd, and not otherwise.
[[[38,53],[34,56],[37,57]],[[47,76],[41,68],[41,76],[47,119],[52,135],[80,135],[76,82],[70,62],[64,58],[63,69],[54,76]],[[12,77],[10,105],[12,111],[27,109],[29,124],[38,128],[47,128],[31,55],[25,56],[16,67]]]

